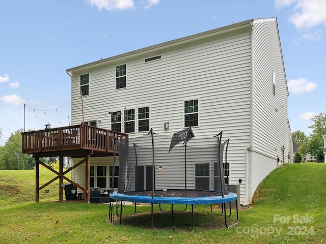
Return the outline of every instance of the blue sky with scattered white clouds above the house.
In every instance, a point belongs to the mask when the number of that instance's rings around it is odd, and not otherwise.
[[[325,113],[326,0],[0,1],[0,146],[69,126],[66,69],[255,18],[277,17],[291,132]]]

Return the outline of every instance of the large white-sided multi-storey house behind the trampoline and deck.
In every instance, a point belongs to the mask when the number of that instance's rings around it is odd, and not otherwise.
[[[131,41],[131,40],[130,40]],[[171,136],[230,138],[230,184],[250,204],[261,180],[292,155],[288,88],[276,18],[251,19],[67,70],[71,123]],[[80,96],[83,93],[83,97]],[[108,112],[118,111],[114,123]],[[78,162],[78,159],[74,162]],[[291,160],[292,162],[292,160]],[[208,163],[209,164],[209,163]],[[115,186],[112,157],[91,158],[91,187]],[[118,166],[117,166],[118,169]],[[183,169],[171,169],[184,175]],[[195,173],[187,185],[195,185]],[[212,176],[208,176],[212,177]],[[85,185],[85,170],[73,170]],[[169,178],[171,188],[182,188]],[[212,179],[211,179],[212,180]]]

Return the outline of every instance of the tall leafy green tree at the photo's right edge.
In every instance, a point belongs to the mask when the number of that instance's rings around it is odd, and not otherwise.
[[[311,118],[311,121],[314,122],[314,125],[309,126],[310,129],[313,129],[308,142],[309,153],[316,157],[318,163],[324,162],[324,142],[322,136],[325,135],[326,114],[320,113],[315,115]]]

